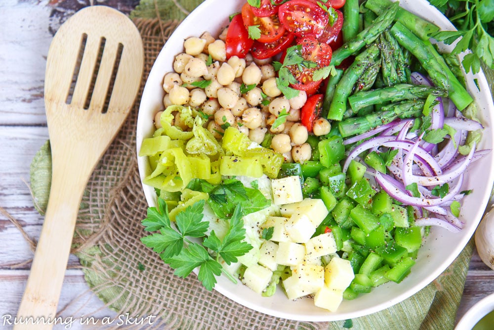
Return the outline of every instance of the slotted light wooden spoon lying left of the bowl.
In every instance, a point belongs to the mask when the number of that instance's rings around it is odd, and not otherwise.
[[[51,191],[18,317],[55,318],[82,193],[132,107],[142,71],[140,34],[110,7],[81,9],[53,38],[44,85]]]

